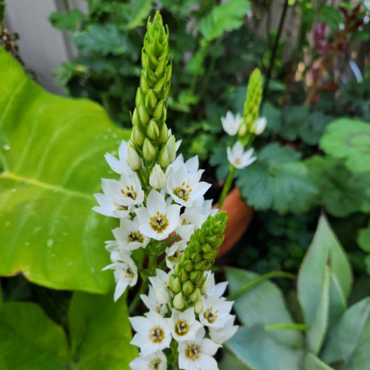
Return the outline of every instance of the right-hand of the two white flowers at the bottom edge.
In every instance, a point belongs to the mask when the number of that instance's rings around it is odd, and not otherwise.
[[[200,328],[194,340],[179,343],[179,368],[186,370],[218,370],[212,357],[221,347],[213,340],[205,338],[204,328]]]

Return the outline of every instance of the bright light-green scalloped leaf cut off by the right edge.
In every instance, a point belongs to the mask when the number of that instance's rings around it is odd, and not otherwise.
[[[330,123],[320,148],[334,158],[344,160],[352,172],[370,172],[370,124],[350,118]]]

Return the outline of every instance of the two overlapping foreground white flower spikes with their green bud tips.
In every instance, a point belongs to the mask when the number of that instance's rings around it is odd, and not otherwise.
[[[204,199],[211,185],[201,181],[198,157],[176,156],[181,143],[165,122],[168,31],[158,12],[148,20],[142,64],[131,138],[120,144],[118,158],[105,155],[119,179],[102,179],[103,193],[95,194],[93,209],[120,222],[106,242],[111,264],[104,270],[113,270],[115,301],[141,283],[130,313],[140,298],[148,312],[130,318],[131,343],[140,348],[132,369],[218,369],[212,356],[237,330],[233,302],[222,297],[227,284],[216,284],[210,271],[227,217]]]

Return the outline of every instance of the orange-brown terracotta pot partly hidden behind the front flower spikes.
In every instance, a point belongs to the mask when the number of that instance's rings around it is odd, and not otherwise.
[[[215,204],[214,208],[217,208]],[[234,187],[223,201],[222,210],[227,212],[225,240],[223,241],[217,258],[228,252],[243,236],[251,222],[253,208],[249,207],[241,198],[240,190]]]

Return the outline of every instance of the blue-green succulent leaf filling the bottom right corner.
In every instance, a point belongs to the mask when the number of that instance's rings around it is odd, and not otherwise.
[[[369,315],[369,297],[348,308],[328,336],[327,344],[322,353],[322,358],[326,363],[352,364],[348,367],[345,366],[345,369],[368,369],[370,364]],[[353,365],[355,363],[359,366],[355,367]]]

